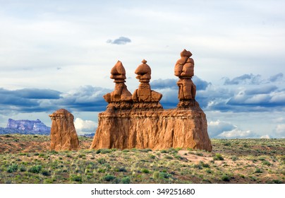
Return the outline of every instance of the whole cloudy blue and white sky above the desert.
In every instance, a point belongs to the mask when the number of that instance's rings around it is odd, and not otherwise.
[[[142,59],[164,109],[178,103],[174,65],[195,61],[211,138],[285,138],[285,1],[0,0],[0,127],[66,108],[95,132],[118,60],[138,88]]]

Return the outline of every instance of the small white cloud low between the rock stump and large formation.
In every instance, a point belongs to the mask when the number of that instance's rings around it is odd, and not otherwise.
[[[77,117],[74,120],[74,127],[78,134],[91,134],[95,133],[97,123],[92,120],[83,120],[80,117]]]

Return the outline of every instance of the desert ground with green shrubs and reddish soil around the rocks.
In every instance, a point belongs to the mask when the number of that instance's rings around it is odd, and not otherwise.
[[[1,135],[0,183],[273,183],[285,181],[285,139],[211,139],[213,151],[49,151],[49,136]]]

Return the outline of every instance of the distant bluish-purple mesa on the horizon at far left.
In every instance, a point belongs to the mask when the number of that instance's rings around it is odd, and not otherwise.
[[[49,135],[51,128],[42,121],[8,119],[6,128],[0,128],[0,134],[44,134]]]

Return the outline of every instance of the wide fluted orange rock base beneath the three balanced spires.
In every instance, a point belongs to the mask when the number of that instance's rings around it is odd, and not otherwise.
[[[116,109],[99,114],[90,148],[193,148],[212,151],[207,119],[199,104],[178,109]]]

